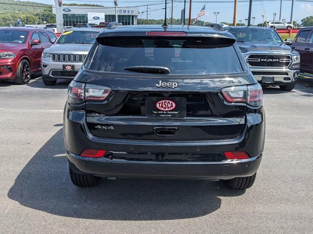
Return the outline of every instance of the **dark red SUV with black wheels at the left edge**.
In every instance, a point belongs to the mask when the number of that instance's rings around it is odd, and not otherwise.
[[[0,80],[27,84],[31,74],[41,73],[41,54],[56,39],[42,28],[0,28]]]

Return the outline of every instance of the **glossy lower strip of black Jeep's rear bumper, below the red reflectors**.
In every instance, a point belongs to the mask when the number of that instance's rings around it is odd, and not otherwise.
[[[76,173],[102,177],[231,179],[256,173],[262,155],[221,162],[140,162],[90,158],[67,152],[70,168]]]

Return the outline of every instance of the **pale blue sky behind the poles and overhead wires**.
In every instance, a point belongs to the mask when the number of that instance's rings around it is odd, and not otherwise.
[[[35,2],[41,2],[46,4],[54,4],[54,0],[30,0]],[[222,0],[222,1],[231,1],[231,0]],[[241,1],[241,0],[238,0]],[[245,19],[248,18],[248,0],[245,2],[238,2],[238,11],[237,11],[237,22],[242,20],[245,22]],[[119,7],[124,6],[137,6],[144,4],[156,4],[156,3],[165,3],[165,0],[118,0]],[[167,16],[171,16],[171,0],[169,2]],[[189,0],[186,1],[186,16],[189,11]],[[201,8],[205,4],[206,15],[202,16],[199,20],[204,20],[206,22],[215,22],[216,16],[214,12],[219,12],[217,17],[217,22],[232,22],[233,19],[233,9],[234,3],[232,2],[221,2],[218,0],[193,0],[192,1],[192,18],[195,18],[198,13],[201,11]],[[89,3],[89,4],[99,4],[104,6],[114,6],[113,0],[63,0],[63,3]],[[273,20],[273,13],[276,12],[276,20],[279,20],[279,7],[280,0],[254,0],[252,3],[252,17],[255,17],[254,24],[262,22],[262,4],[264,6],[265,15],[267,20]],[[173,17],[180,18],[181,10],[183,9],[183,0],[174,0],[174,11]],[[139,12],[143,12],[143,19],[146,18],[146,6],[139,7]],[[149,6],[150,15],[149,19],[163,19],[164,18],[164,4],[152,5]],[[313,16],[313,0],[295,0],[293,8],[293,20],[296,20],[298,23],[301,22],[301,19]],[[140,16],[138,17],[140,18]],[[187,18],[187,17],[186,17]],[[291,18],[291,0],[282,1],[282,19],[290,21]],[[252,23],[252,20],[251,20]]]

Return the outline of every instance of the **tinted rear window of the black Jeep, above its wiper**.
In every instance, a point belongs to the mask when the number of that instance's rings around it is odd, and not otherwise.
[[[89,70],[134,73],[133,66],[161,66],[170,75],[243,72],[232,39],[192,37],[99,38],[85,66]]]

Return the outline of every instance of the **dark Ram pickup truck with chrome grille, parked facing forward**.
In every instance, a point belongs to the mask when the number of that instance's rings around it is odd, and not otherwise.
[[[300,54],[266,27],[228,27],[254,76],[262,85],[291,91],[298,79]]]

